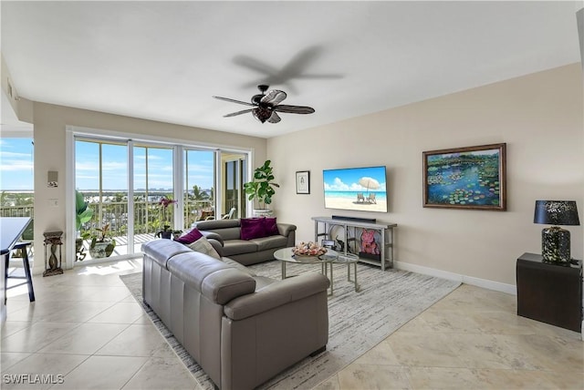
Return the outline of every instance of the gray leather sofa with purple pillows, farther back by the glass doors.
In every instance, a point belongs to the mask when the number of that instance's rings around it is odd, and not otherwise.
[[[276,223],[276,235],[251,240],[241,239],[240,220],[200,221],[194,227],[206,238],[221,243],[221,248],[215,248],[221,256],[245,265],[274,260],[275,251],[296,244],[296,225],[288,223]]]

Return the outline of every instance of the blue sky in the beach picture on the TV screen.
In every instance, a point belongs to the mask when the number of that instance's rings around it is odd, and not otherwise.
[[[380,183],[380,188],[375,190],[386,190],[385,167],[325,169],[322,172],[325,190],[332,191],[366,190],[359,184],[359,180],[364,177],[375,179]]]

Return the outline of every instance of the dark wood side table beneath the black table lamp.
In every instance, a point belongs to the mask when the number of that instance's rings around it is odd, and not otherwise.
[[[570,267],[547,264],[523,253],[516,263],[517,315],[582,331],[582,261]]]

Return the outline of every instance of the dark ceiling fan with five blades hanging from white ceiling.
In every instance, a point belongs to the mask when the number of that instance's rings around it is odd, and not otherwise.
[[[229,97],[214,98],[253,107],[224,115],[224,118],[235,117],[236,115],[251,112],[254,118],[256,118],[262,123],[265,123],[266,121],[269,123],[277,123],[281,120],[279,115],[277,115],[277,112],[287,112],[289,114],[312,114],[314,112],[314,108],[311,107],[288,106],[286,104],[280,104],[280,102],[287,97],[286,92],[280,91],[279,89],[272,89],[266,93],[267,88],[269,88],[269,86],[266,85],[257,86],[257,89],[259,89],[260,93],[252,97],[251,103],[247,103],[241,100],[235,100]]]

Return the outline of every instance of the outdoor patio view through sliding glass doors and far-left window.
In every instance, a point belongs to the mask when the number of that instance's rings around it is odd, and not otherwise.
[[[32,145],[32,139],[5,139],[0,149],[0,217],[30,217],[31,225]],[[177,155],[183,162],[178,172]],[[165,231],[180,234],[196,221],[245,215],[245,194],[240,190],[244,154],[76,139],[75,159],[75,262],[132,255],[141,251],[143,242],[162,237]],[[131,167],[128,161],[133,161]],[[10,166],[13,175],[6,174]],[[27,175],[28,182],[22,180]],[[214,189],[217,176],[222,178],[219,204]],[[231,215],[230,210],[234,210]],[[33,240],[32,226],[23,239]]]

